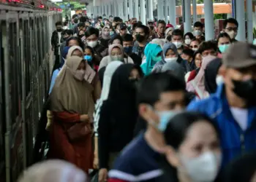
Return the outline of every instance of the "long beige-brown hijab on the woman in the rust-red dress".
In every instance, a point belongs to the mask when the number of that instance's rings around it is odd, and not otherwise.
[[[89,114],[94,112],[93,87],[85,80],[75,79],[75,71],[83,58],[72,56],[62,67],[50,94],[51,111]]]

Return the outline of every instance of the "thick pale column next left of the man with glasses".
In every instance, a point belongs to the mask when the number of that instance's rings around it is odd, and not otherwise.
[[[206,41],[214,39],[214,5],[212,0],[204,0]]]

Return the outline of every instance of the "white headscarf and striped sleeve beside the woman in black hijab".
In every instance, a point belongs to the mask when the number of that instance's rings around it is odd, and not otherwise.
[[[108,99],[108,94],[110,91],[110,84],[111,84],[111,79],[116,71],[116,69],[121,66],[123,63],[118,60],[114,60],[108,64],[108,66],[105,69],[105,73],[103,76],[103,87],[102,87],[102,94],[100,95],[99,100],[97,100],[97,103],[95,105],[94,109],[94,131],[95,131],[95,136],[98,136],[98,124],[99,124],[99,115],[100,115],[100,108],[102,107],[102,103],[104,100]]]

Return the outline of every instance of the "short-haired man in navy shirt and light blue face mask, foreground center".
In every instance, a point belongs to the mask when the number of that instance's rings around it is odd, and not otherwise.
[[[158,159],[165,149],[163,132],[174,114],[184,108],[185,84],[168,73],[149,74],[138,86],[138,113],[146,124],[116,159],[109,181],[157,181]]]

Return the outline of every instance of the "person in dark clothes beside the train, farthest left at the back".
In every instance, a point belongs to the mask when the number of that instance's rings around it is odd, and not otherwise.
[[[54,61],[54,66],[53,66],[53,71],[56,70],[56,68],[59,67],[59,63],[61,62],[61,50],[60,50],[60,46],[61,46],[61,42],[63,41],[62,38],[62,23],[61,21],[56,22],[56,31],[53,31],[53,34],[51,36],[50,39],[50,43],[51,43],[51,50],[54,52],[55,55],[55,61]]]

